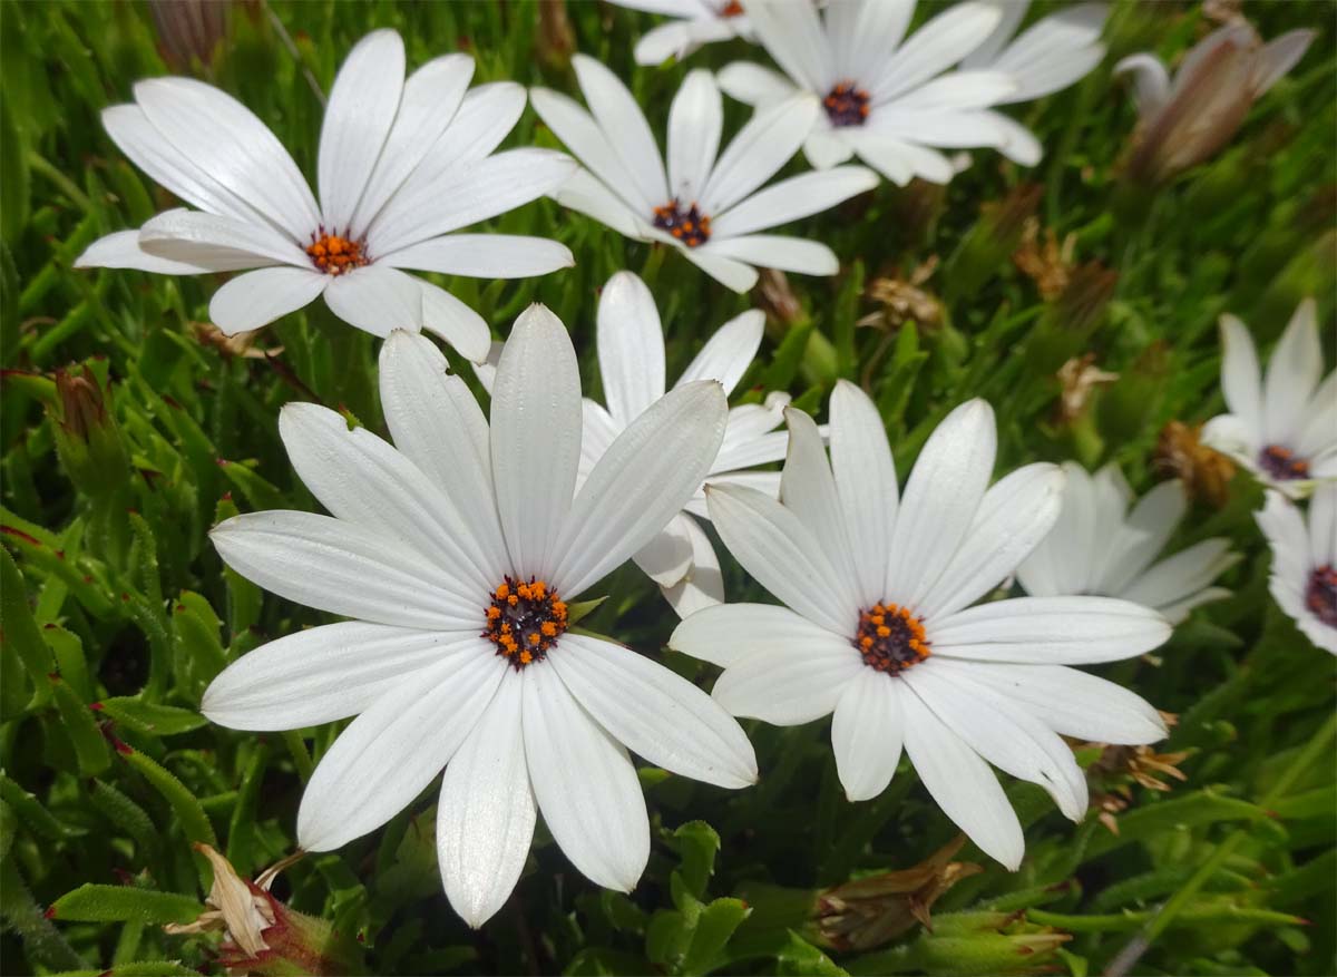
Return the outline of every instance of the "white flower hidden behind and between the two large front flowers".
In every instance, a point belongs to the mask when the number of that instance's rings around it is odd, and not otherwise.
[[[678,378],[674,389],[698,380],[718,380],[725,394],[751,366],[766,325],[763,313],[751,309],[722,325]],[[614,440],[646,409],[664,396],[664,338],[650,289],[630,271],[619,271],[603,289],[598,319],[599,376],[607,409],[584,401],[584,436],[580,441],[580,476],[594,469]],[[779,461],[789,436],[775,430],[785,420],[789,396],[771,393],[765,405],[743,404],[729,412],[725,440],[710,466],[710,484],[751,485],[774,496],[779,472],[741,469]],[[691,515],[689,515],[691,513]],[[639,553],[640,567],[663,591],[683,617],[725,599],[719,560],[697,519],[709,519],[706,496],[697,493]]]

